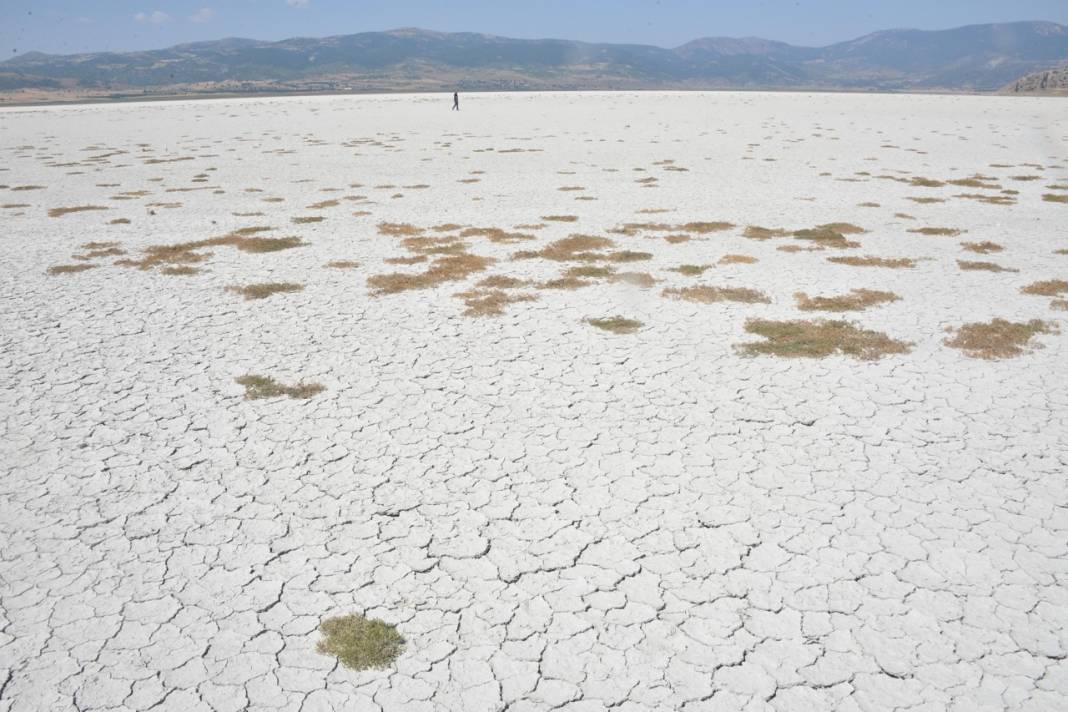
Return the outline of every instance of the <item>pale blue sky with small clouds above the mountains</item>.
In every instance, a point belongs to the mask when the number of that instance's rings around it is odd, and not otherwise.
[[[1022,19],[1068,25],[1068,0],[0,0],[0,57],[397,27],[661,47],[702,36],[826,45],[890,28]]]

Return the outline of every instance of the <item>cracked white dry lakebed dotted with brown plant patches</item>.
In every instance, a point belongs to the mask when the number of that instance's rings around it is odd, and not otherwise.
[[[0,710],[1068,708],[1064,101],[450,104],[0,110]]]

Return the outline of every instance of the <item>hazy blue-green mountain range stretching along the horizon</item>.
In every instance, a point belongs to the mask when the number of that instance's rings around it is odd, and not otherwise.
[[[674,49],[404,29],[227,38],[142,52],[0,62],[0,92],[160,94],[460,89],[993,91],[1068,62],[1053,22],[888,30],[828,47],[706,37]]]

